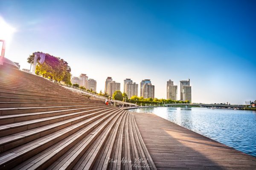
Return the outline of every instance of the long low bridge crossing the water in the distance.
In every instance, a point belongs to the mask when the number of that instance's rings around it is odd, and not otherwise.
[[[200,107],[216,107],[216,108],[245,108],[243,105],[220,105],[220,104],[194,104],[194,103],[172,103],[164,104],[165,106],[200,106]]]

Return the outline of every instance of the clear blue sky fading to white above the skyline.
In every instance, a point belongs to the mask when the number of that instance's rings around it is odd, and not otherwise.
[[[151,79],[155,97],[166,98],[171,79],[180,99],[180,80],[190,79],[192,102],[244,104],[256,99],[255,8],[254,0],[0,0],[0,21],[13,32],[5,57],[21,68],[42,51],[96,79],[98,92],[107,77],[121,91],[126,78]]]

